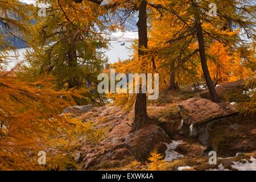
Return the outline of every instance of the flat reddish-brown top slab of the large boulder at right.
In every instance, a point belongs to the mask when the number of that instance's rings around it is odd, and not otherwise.
[[[180,113],[186,125],[199,124],[214,118],[237,113],[232,105],[214,103],[210,100],[194,97],[179,104]]]

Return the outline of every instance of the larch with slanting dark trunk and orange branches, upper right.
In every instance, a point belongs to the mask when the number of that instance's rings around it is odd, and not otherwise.
[[[182,11],[183,13],[177,11],[181,3],[186,5]],[[159,11],[169,11],[183,22],[183,28],[170,39],[170,43],[184,39],[197,42],[198,47],[196,49],[198,49],[200,55],[201,67],[209,89],[210,99],[214,102],[220,102],[207,65],[207,58],[209,57],[207,49],[210,43],[216,41],[232,48],[241,46],[244,42],[241,40],[239,32],[244,32],[249,39],[254,39],[255,30],[253,26],[255,22],[253,22],[253,19],[255,18],[255,9],[246,0],[213,1],[212,3],[217,5],[216,14],[208,13],[212,13],[212,11],[209,11],[212,7],[209,7],[210,3],[206,0],[184,0],[179,1],[179,3],[173,0],[165,6],[155,4],[154,7]]]

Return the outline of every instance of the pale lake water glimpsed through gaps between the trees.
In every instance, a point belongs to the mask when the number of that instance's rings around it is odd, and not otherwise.
[[[133,51],[130,49],[132,42],[125,42],[124,46],[121,46],[121,43],[122,42],[111,42],[109,49],[104,51],[105,56],[109,59],[109,63],[116,63],[119,59],[129,59],[131,55],[133,55]],[[16,53],[13,51],[9,52],[10,61],[7,68],[8,70],[21,61],[24,61],[24,53],[26,53],[27,49],[28,48],[18,49]]]

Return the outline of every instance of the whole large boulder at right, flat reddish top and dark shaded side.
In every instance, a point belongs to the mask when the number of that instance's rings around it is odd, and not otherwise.
[[[255,119],[244,117],[234,106],[204,98],[190,98],[179,104],[183,122],[179,133],[195,137],[207,147],[229,156],[256,149]]]

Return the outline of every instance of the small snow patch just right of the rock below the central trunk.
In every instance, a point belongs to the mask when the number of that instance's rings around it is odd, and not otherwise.
[[[167,162],[172,162],[172,160],[174,159],[183,158],[184,155],[174,151],[177,148],[177,146],[181,143],[183,143],[183,140],[177,140],[177,141],[172,140],[172,143],[170,144],[166,143],[167,150],[166,150],[166,157],[164,158],[164,160],[166,160]]]

